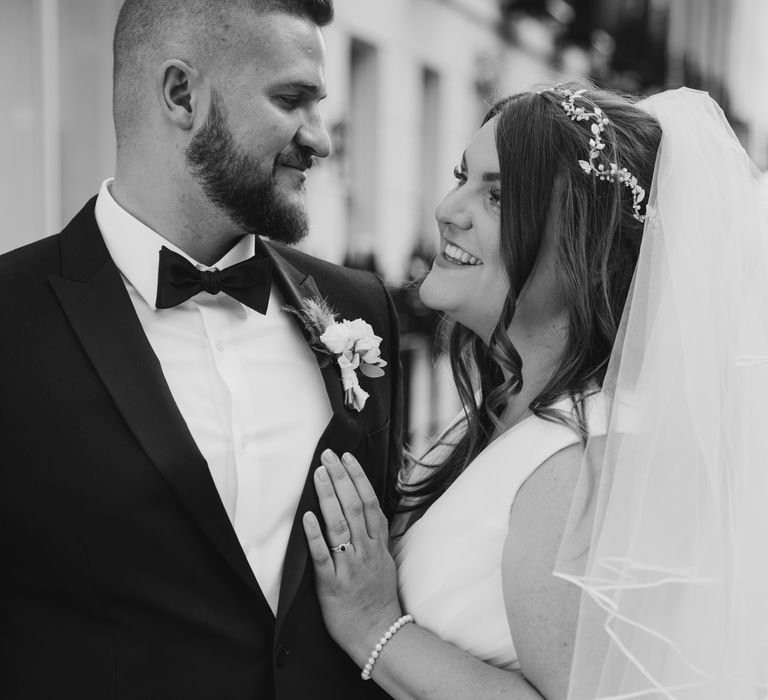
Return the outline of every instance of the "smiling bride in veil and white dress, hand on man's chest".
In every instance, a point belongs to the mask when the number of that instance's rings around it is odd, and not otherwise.
[[[455,175],[421,296],[464,410],[389,529],[323,455],[331,635],[395,698],[766,697],[768,237],[721,111],[521,93]]]

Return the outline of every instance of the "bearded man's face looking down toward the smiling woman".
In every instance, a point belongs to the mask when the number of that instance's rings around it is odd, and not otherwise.
[[[310,20],[244,15],[232,70],[212,89],[186,159],[205,195],[245,231],[295,243],[307,233],[306,171],[330,152],[318,107],[324,48]]]

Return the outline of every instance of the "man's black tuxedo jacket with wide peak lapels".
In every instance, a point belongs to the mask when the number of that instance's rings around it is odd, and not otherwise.
[[[386,697],[325,631],[301,526],[318,512],[322,450],[355,454],[380,495],[395,473],[398,336],[383,286],[268,246],[286,303],[321,295],[342,318],[364,318],[389,363],[362,378],[360,413],[344,406],[336,366],[322,371],[334,414],[307,464],[275,619],[94,202],[60,234],[0,257],[0,697]]]

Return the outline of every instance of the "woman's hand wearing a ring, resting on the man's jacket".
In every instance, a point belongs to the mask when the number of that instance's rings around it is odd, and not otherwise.
[[[387,549],[387,519],[354,457],[344,454],[340,460],[326,450],[321,461],[315,489],[325,537],[311,512],[304,514],[304,532],[328,632],[362,666],[402,614],[395,563]]]

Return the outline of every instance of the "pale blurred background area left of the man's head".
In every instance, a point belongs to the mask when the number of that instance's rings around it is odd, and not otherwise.
[[[0,3],[0,252],[59,231],[114,169],[121,2]]]

